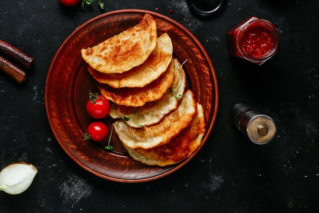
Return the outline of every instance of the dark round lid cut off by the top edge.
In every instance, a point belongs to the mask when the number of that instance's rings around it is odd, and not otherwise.
[[[224,0],[188,0],[190,9],[200,16],[210,16],[218,13],[224,5]]]

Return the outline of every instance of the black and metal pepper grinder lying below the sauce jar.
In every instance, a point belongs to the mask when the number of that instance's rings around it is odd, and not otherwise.
[[[276,125],[271,117],[255,107],[238,103],[230,110],[230,122],[255,144],[267,144],[276,134]]]

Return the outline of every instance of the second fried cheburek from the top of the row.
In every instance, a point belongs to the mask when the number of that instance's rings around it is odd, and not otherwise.
[[[95,80],[109,84],[114,88],[143,87],[165,72],[172,60],[173,44],[167,33],[157,38],[156,46],[146,61],[124,73],[101,73],[88,66],[89,73]]]

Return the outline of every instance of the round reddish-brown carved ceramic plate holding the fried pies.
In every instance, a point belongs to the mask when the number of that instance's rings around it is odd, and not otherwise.
[[[217,114],[218,85],[215,70],[195,36],[169,17],[145,10],[119,10],[87,21],[63,42],[51,62],[46,80],[48,121],[62,149],[89,172],[119,182],[142,182],[166,176],[181,168],[201,148],[181,163],[161,168],[132,159],[115,133],[112,135],[112,152],[103,150],[108,143],[107,139],[100,143],[83,140],[87,126],[94,121],[85,109],[88,91],[98,90],[96,82],[86,70],[87,64],[80,51],[137,25],[145,13],[151,14],[156,20],[158,36],[168,33],[171,37],[175,57],[180,61],[188,59],[183,66],[188,75],[188,87],[194,91],[197,102],[205,110],[207,131],[202,147]],[[113,121],[104,119],[104,122],[111,129]]]

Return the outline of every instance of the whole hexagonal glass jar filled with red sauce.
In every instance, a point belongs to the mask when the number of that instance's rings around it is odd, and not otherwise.
[[[278,50],[279,33],[271,22],[250,17],[227,32],[228,53],[255,64],[262,64]]]

